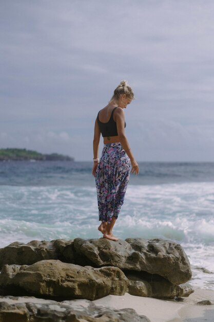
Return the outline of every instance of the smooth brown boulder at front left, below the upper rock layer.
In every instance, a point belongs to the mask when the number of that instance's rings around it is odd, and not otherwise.
[[[42,260],[32,265],[5,265],[0,275],[2,294],[85,298],[123,295],[128,279],[118,267],[79,266],[60,260]]]

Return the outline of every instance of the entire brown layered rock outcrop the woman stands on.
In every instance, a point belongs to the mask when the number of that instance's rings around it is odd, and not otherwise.
[[[126,291],[158,298],[193,292],[183,284],[191,278],[183,248],[163,239],[14,242],[0,249],[0,266],[2,294],[95,299]]]

